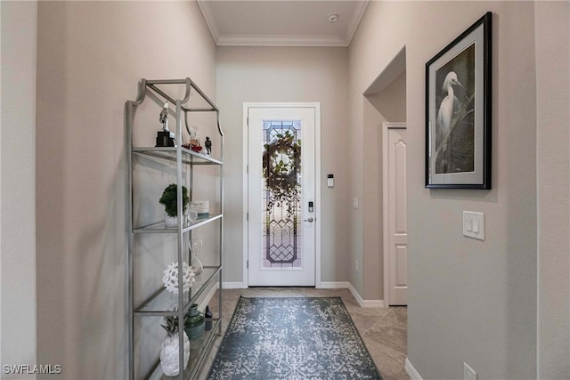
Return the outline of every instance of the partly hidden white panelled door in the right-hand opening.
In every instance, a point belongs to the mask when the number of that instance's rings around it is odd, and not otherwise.
[[[388,304],[408,303],[406,125],[384,123],[385,287]],[[387,281],[386,281],[387,277]]]

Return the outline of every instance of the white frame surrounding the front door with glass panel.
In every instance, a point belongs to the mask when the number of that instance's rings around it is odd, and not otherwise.
[[[314,109],[314,286],[321,287],[321,103],[320,102],[244,102],[243,103],[243,135],[242,135],[242,283],[248,287],[248,109]]]

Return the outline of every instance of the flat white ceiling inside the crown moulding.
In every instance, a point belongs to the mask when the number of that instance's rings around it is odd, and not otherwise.
[[[198,0],[217,45],[348,46],[368,0]],[[336,20],[331,21],[335,19]]]

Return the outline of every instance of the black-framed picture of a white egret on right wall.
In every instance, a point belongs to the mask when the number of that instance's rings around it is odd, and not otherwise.
[[[428,189],[491,189],[491,43],[486,12],[426,63]]]

